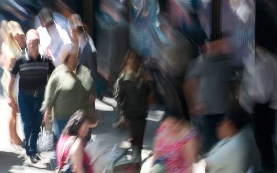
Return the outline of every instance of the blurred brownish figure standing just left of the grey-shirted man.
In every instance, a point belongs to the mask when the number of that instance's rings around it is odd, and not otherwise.
[[[189,61],[197,56],[198,49],[181,31],[172,27],[169,16],[161,15],[160,22],[161,31],[168,39],[167,43],[161,44],[161,56],[157,59],[162,73],[158,79],[164,90],[165,106],[188,119],[183,78]]]

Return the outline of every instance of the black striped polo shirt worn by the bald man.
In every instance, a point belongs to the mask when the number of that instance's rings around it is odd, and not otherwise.
[[[48,76],[54,69],[51,58],[39,54],[34,61],[29,54],[25,54],[16,59],[10,73],[12,78],[19,73],[19,91],[32,93],[37,90],[41,93],[44,92]]]

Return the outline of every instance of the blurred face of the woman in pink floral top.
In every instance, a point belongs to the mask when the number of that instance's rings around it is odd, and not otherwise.
[[[182,120],[175,117],[168,117],[163,123],[169,133],[177,133],[182,129]]]

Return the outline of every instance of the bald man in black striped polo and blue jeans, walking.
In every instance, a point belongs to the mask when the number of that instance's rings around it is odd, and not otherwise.
[[[26,44],[28,52],[16,59],[10,72],[7,102],[10,107],[15,107],[12,88],[19,73],[18,107],[25,134],[24,147],[31,162],[37,163],[40,160],[37,155],[37,139],[43,119],[40,108],[48,77],[55,67],[50,58],[39,54],[40,37],[37,30],[27,32]]]

